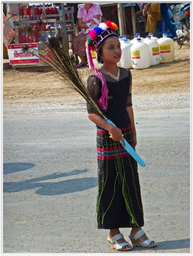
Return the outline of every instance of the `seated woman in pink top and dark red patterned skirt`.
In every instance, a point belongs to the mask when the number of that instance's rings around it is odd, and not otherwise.
[[[78,10],[77,19],[79,28],[83,30],[72,41],[72,49],[75,55],[80,56],[81,62],[77,64],[77,68],[87,65],[86,57],[86,38],[90,30],[101,23],[101,8],[95,3],[85,3],[83,7]]]

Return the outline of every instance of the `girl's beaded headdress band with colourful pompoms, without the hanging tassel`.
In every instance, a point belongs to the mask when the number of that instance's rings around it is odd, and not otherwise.
[[[95,50],[101,45],[104,39],[111,35],[118,36],[118,34],[119,28],[117,27],[117,25],[107,20],[106,22],[100,23],[89,32],[87,42],[90,45],[91,50]]]

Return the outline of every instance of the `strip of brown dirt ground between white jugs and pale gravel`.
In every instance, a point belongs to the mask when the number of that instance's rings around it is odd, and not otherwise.
[[[85,80],[92,74],[81,69]],[[190,44],[181,50],[175,44],[175,62],[162,63],[149,69],[131,69],[132,94],[170,94],[190,92]],[[79,95],[63,87],[54,72],[3,72],[4,103],[52,102],[53,100],[77,100]],[[67,96],[67,97],[66,97]]]

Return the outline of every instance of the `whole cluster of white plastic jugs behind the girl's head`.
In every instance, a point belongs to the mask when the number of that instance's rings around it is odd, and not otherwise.
[[[126,39],[126,35],[120,36],[122,56],[118,66],[125,69],[147,69],[159,63],[173,62],[174,41],[163,34],[157,38],[153,33],[144,38],[136,34],[132,40]],[[92,60],[96,69],[100,69],[101,64],[97,62],[96,53],[92,53]]]

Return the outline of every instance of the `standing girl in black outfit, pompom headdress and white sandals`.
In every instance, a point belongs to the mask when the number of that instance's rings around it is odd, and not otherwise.
[[[89,64],[95,73],[88,78],[88,90],[117,127],[96,115],[89,104],[87,109],[89,119],[97,126],[98,228],[110,229],[107,240],[112,248],[127,251],[132,246],[149,248],[156,244],[141,229],[144,214],[137,162],[119,142],[122,140],[124,144],[124,137],[134,149],[137,144],[132,74],[130,70],[117,66],[121,58],[117,34],[116,24],[107,21],[90,31],[87,39]],[[103,63],[100,70],[95,69],[90,50],[95,50],[98,62]],[[126,242],[119,228],[132,228],[129,235],[132,246]]]

